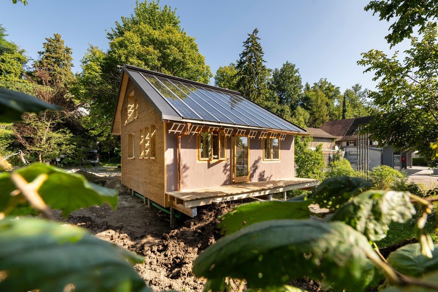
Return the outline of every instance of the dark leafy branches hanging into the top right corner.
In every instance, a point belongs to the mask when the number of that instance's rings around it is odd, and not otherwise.
[[[393,47],[413,33],[413,28],[419,26],[420,34],[426,31],[426,24],[438,17],[438,1],[436,0],[374,0],[366,7],[366,11],[379,14],[380,20],[389,22],[396,20],[389,27],[391,32],[385,37]]]

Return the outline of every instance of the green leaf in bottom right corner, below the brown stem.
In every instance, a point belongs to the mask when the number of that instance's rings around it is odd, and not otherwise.
[[[435,244],[434,247],[432,258],[428,258],[421,254],[419,243],[407,244],[391,252],[387,260],[398,272],[420,277],[428,271],[438,269],[438,244]]]

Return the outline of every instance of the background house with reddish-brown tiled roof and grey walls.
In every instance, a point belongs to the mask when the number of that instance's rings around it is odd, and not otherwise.
[[[358,134],[361,126],[373,116],[356,117],[324,122],[321,129],[336,136],[336,144],[345,152],[353,168],[371,170],[375,166],[387,165],[394,169],[412,167],[413,151],[396,151],[392,145],[379,147],[378,141],[370,139],[369,134]]]

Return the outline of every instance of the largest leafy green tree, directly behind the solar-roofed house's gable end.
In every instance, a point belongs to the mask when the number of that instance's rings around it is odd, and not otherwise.
[[[118,139],[110,133],[123,63],[208,83],[212,74],[193,37],[180,27],[176,11],[159,2],[136,2],[134,13],[107,32],[109,49],[90,46],[74,86],[89,110],[86,126],[105,150]]]

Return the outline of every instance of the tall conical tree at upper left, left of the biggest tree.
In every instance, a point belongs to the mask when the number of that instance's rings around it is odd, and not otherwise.
[[[53,38],[46,38],[43,43],[43,51],[38,52],[39,60],[34,62],[34,68],[37,81],[42,84],[48,82],[51,87],[63,87],[66,91],[74,80],[74,75],[71,72],[73,67],[72,50],[64,44],[61,35],[54,34]],[[41,74],[48,74],[47,80],[42,80]]]

